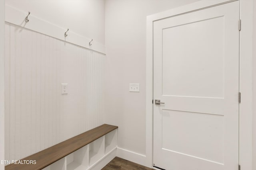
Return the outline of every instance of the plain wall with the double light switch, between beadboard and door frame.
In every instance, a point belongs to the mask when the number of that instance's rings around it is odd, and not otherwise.
[[[106,123],[118,125],[118,147],[138,153],[122,150],[124,158],[146,153],[146,16],[196,1],[105,2]],[[129,83],[140,83],[140,92],[129,92]]]

